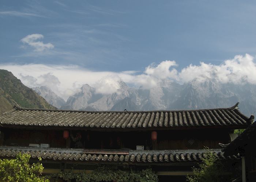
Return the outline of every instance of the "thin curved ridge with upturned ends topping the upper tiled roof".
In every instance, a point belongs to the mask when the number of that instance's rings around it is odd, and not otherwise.
[[[234,106],[232,107],[227,107],[227,108],[210,108],[210,109],[194,109],[194,110],[152,110],[152,111],[84,111],[84,110],[61,110],[61,109],[42,109],[42,108],[24,108],[20,107],[18,104],[14,105],[15,110],[30,110],[30,111],[56,111],[56,112],[110,112],[110,113],[115,113],[115,112],[125,112],[125,113],[130,113],[130,112],[182,112],[182,111],[209,111],[209,110],[232,110],[238,108],[239,102],[237,102]]]

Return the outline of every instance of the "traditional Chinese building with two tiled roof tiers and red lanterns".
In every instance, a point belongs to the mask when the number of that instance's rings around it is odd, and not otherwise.
[[[74,169],[90,172],[97,164],[151,167],[159,179],[185,179],[205,156],[204,146],[219,159],[218,143],[230,143],[234,129],[253,122],[230,108],[182,111],[73,111],[14,106],[0,116],[0,157],[19,152],[42,158],[44,173]],[[160,180],[161,181],[161,180]]]

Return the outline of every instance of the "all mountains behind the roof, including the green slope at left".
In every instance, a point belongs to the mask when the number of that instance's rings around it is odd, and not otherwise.
[[[256,85],[220,83],[209,78],[193,79],[179,84],[159,80],[150,89],[129,87],[119,81],[120,88],[112,94],[100,94],[96,88],[84,84],[67,101],[46,86],[23,85],[11,72],[0,70],[0,112],[11,110],[14,104],[26,108],[59,108],[87,111],[187,110],[230,107],[240,102],[240,110],[247,116],[256,111]]]

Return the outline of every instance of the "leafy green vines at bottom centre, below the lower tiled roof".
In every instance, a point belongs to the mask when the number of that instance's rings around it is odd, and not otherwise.
[[[91,174],[74,173],[74,171],[55,173],[48,178],[64,180],[76,179],[79,182],[116,181],[116,182],[157,182],[158,177],[152,169],[120,170],[117,167],[99,166]]]

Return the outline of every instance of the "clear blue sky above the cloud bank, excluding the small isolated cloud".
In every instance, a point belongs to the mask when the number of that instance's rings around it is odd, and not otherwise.
[[[0,3],[0,62],[96,71],[177,69],[256,55],[255,1],[10,1]],[[21,39],[41,34],[54,48]]]

